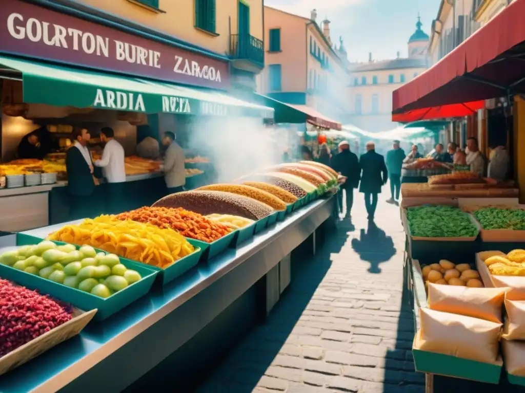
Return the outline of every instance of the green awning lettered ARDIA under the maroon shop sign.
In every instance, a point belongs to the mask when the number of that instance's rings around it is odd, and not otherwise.
[[[0,56],[0,65],[3,71],[10,69],[22,73],[23,99],[29,104],[149,114],[274,117],[271,107],[247,103],[215,91],[7,56]]]

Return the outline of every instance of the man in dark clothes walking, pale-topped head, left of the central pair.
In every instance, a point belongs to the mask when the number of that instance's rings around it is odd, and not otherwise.
[[[344,190],[346,197],[346,215],[350,217],[350,211],[352,210],[352,204],[354,202],[354,188],[358,188],[359,185],[360,170],[358,156],[350,151],[348,141],[344,140],[339,144],[339,154],[332,158],[332,168],[346,178],[346,181],[341,185],[338,201],[339,210],[342,211],[342,193]]]

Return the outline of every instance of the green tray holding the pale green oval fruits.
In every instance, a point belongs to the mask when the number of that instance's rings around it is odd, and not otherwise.
[[[33,245],[42,240],[37,237],[23,234],[17,234],[16,238],[17,246]],[[55,243],[66,244],[63,242]],[[155,276],[158,273],[147,265],[129,259],[120,258],[120,263],[125,267],[137,270],[142,276],[142,279],[132,283],[121,291],[112,294],[106,299],[88,292],[83,292],[76,288],[66,287],[58,282],[50,281],[40,276],[35,276],[25,271],[14,269],[7,265],[0,265],[0,277],[15,281],[19,285],[23,285],[29,289],[38,289],[54,298],[71,303],[81,310],[89,311],[98,309],[94,319],[102,321],[148,293],[153,286]]]

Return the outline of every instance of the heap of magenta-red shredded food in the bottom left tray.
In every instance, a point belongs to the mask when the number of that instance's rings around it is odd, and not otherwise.
[[[72,310],[0,279],[0,357],[69,321]]]

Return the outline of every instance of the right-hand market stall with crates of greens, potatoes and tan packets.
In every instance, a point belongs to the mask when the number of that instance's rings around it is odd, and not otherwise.
[[[520,354],[499,351],[500,331],[507,329],[502,319],[507,303],[503,301],[509,292],[507,288],[491,292],[495,285],[490,283],[501,275],[518,274],[505,266],[506,260],[513,269],[522,263],[514,256],[519,252],[513,250],[525,247],[524,206],[518,204],[515,188],[491,187],[462,176],[434,177],[440,179],[440,188],[428,183],[402,185],[405,288],[411,295],[416,324],[414,364],[417,372],[426,374],[428,392],[521,391],[522,374],[513,366]],[[478,255],[503,259],[487,259],[485,266],[477,262]],[[513,279],[522,281],[522,277]],[[490,318],[482,311],[489,303],[496,315]],[[493,325],[489,327],[486,321]],[[453,325],[456,329],[452,331]],[[491,338],[488,333],[481,338],[485,328],[492,329]],[[505,348],[505,334],[503,337]],[[466,342],[470,344],[465,346]],[[477,348],[491,350],[481,353]],[[508,375],[509,367],[514,367],[510,368],[513,375]]]

